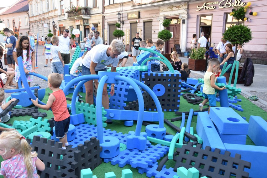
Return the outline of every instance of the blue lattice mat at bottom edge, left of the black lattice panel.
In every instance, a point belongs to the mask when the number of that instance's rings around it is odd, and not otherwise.
[[[176,175],[176,172],[173,170],[172,167],[166,169],[164,165],[160,171],[157,171],[158,162],[153,163],[148,168],[138,168],[138,172],[140,174],[146,173],[147,177],[154,176],[155,178],[171,178]]]

